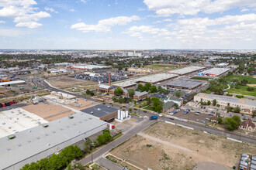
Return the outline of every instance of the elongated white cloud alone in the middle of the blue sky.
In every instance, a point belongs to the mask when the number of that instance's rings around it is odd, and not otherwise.
[[[71,26],[71,29],[77,29],[81,32],[109,32],[112,26],[125,26],[128,22],[139,20],[140,18],[136,15],[131,17],[118,16],[110,19],[103,19],[96,25],[86,25],[84,22],[79,22]]]

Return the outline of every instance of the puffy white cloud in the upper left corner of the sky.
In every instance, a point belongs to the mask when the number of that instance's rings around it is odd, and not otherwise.
[[[13,18],[16,26],[36,28],[42,26],[38,23],[42,18],[50,17],[47,12],[37,12],[34,0],[0,0],[0,17]],[[31,26],[29,25],[32,24]]]

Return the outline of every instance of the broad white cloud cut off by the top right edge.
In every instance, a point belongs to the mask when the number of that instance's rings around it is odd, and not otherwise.
[[[236,7],[256,7],[255,0],[144,0],[144,3],[150,11],[155,11],[157,16],[196,15],[199,12],[209,14],[225,12]]]

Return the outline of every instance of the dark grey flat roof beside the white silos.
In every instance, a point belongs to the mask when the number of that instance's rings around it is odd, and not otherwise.
[[[105,117],[106,115],[112,114],[116,112],[118,109],[115,107],[109,107],[105,104],[99,104],[94,107],[89,107],[87,109],[81,110],[82,112],[85,112],[86,114],[90,114],[95,117]]]

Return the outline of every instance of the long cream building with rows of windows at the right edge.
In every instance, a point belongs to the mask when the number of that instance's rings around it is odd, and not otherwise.
[[[220,107],[240,107],[241,112],[252,113],[256,110],[256,101],[247,99],[238,99],[236,97],[220,96],[209,93],[198,93],[194,97],[194,102],[207,102],[208,100],[213,103],[216,99],[216,103],[220,104]]]

